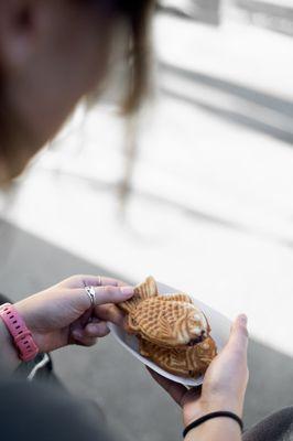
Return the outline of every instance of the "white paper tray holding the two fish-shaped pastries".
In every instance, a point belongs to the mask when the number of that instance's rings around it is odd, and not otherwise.
[[[170,294],[173,292],[182,292],[181,290],[176,290],[174,288],[167,287],[166,284],[163,284],[160,282],[156,282],[156,284],[158,284],[160,294]],[[213,308],[210,308],[207,304],[197,300],[193,294],[188,293],[188,295],[191,295],[193,298],[195,305],[198,306],[206,314],[206,318],[207,318],[210,329],[211,329],[210,335],[215,340],[217,348],[218,348],[218,353],[219,353],[229,338],[231,322],[229,321],[229,319],[227,319],[221,313],[215,311]],[[181,383],[182,385],[185,385],[185,386],[199,386],[203,384],[203,380],[204,380],[203,376],[200,376],[196,379],[186,378],[186,377],[180,377],[177,375],[170,374],[166,370],[162,369],[156,364],[151,362],[149,358],[145,358],[142,355],[140,355],[138,340],[134,335],[127,334],[124,330],[122,330],[119,326],[116,326],[112,323],[108,323],[108,326],[109,326],[112,335],[115,336],[115,338],[127,351],[129,351],[135,358],[138,358],[144,365],[151,367],[158,374],[161,374],[162,376],[164,376],[169,379],[172,379],[173,381]]]

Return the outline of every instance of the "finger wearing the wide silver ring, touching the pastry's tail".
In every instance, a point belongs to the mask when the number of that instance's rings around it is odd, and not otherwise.
[[[100,305],[105,303],[120,303],[130,299],[134,290],[132,287],[94,287],[95,289],[95,305]],[[86,292],[83,289],[73,290],[77,295],[80,295],[83,302],[87,302],[87,308],[91,306],[91,301]]]

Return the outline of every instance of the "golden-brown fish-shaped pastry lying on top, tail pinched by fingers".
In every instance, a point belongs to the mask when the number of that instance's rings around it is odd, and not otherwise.
[[[134,295],[120,303],[127,312],[126,331],[163,347],[183,347],[208,336],[204,313],[184,293],[160,295],[149,277],[134,289]]]

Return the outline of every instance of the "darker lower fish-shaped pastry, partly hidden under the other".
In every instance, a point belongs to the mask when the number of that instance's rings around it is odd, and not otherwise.
[[[211,337],[183,349],[160,347],[144,338],[139,338],[139,352],[164,370],[192,378],[204,374],[217,354],[216,344]]]

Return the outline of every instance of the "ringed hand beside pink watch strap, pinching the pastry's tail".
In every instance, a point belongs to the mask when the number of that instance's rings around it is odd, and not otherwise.
[[[95,308],[85,287],[95,288]],[[115,303],[132,295],[133,288],[119,280],[74,276],[14,306],[32,332],[40,352],[50,352],[73,343],[95,344],[97,337],[109,333],[106,321],[121,325],[123,314]]]

